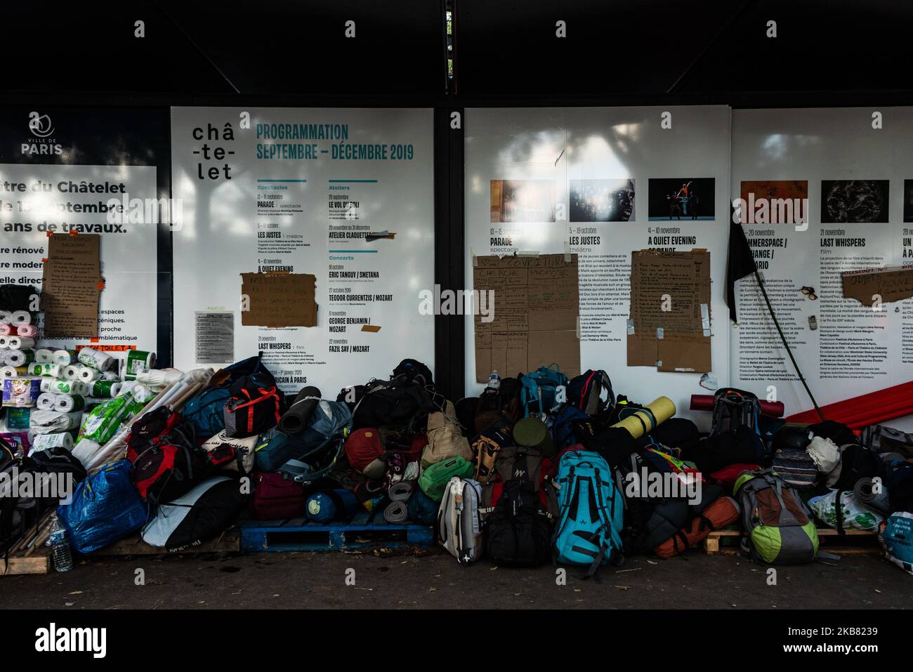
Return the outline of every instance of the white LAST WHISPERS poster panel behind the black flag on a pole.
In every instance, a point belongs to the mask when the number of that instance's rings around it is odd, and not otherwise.
[[[875,111],[732,113],[731,196],[745,200],[746,236],[822,405],[913,377],[913,300],[864,305],[844,299],[841,285],[843,271],[913,258],[913,108]],[[776,197],[791,203],[773,203]],[[812,408],[757,283],[741,281],[737,296],[732,384],[775,396],[788,413]]]

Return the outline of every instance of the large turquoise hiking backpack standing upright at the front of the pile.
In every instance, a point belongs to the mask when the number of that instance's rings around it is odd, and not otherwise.
[[[612,469],[597,453],[571,450],[558,463],[558,523],[553,538],[558,562],[589,565],[584,578],[622,559],[624,501]]]

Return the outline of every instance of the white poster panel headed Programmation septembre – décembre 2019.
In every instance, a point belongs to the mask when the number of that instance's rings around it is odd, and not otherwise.
[[[432,110],[173,108],[174,360],[264,352],[286,392],[434,367]],[[379,234],[379,237],[373,236]],[[369,239],[373,238],[373,239]],[[316,278],[316,326],[242,324],[242,273]]]

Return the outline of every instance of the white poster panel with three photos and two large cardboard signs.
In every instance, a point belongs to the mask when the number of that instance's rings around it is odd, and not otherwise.
[[[627,366],[631,253],[710,252],[709,373],[726,384],[729,121],[724,106],[467,110],[467,288],[474,255],[567,246],[579,255],[582,369],[604,369],[616,394],[666,394],[691,415],[690,395],[707,392],[702,373]],[[471,318],[465,328],[467,394],[477,394]]]

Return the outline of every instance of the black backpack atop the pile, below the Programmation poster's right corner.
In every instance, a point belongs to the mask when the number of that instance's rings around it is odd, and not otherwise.
[[[403,374],[368,383],[352,411],[352,423],[354,429],[389,426],[413,430],[425,425],[427,415],[436,410],[425,385]]]

